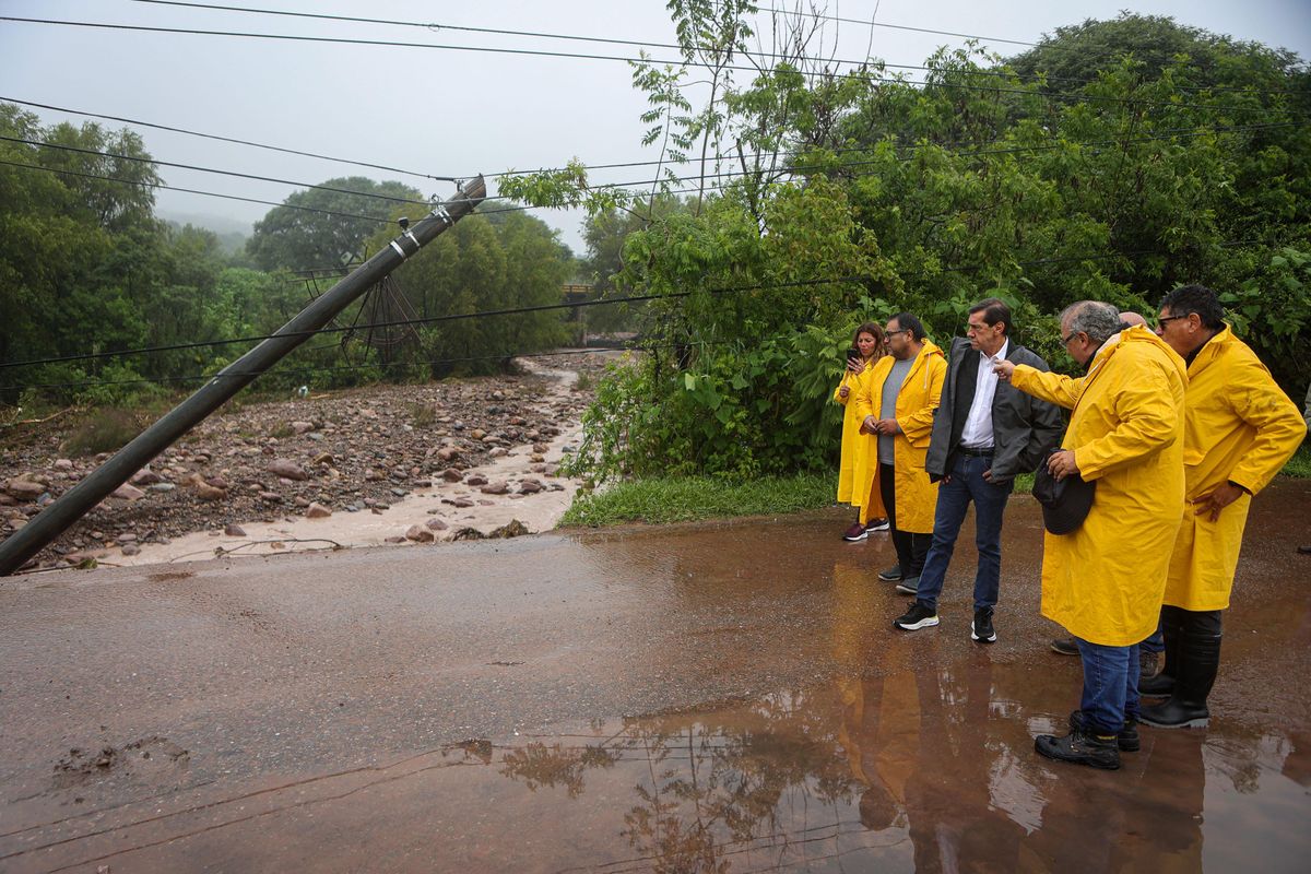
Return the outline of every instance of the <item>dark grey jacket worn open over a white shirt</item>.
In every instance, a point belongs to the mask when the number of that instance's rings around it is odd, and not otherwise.
[[[1006,350],[1006,360],[1029,364],[1040,371],[1050,370],[1045,360],[1015,341]],[[964,337],[953,338],[943,397],[933,417],[933,435],[924,460],[928,478],[933,482],[947,476],[956,463],[961,432],[974,401],[978,366],[979,352],[970,349],[970,341]],[[1047,451],[1061,442],[1065,418],[1058,406],[999,381],[996,394],[992,396],[994,482],[1008,482],[1017,473],[1037,469]]]

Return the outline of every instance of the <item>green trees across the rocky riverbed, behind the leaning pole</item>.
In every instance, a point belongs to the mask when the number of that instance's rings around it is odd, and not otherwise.
[[[12,138],[0,143],[0,363],[47,359],[0,371],[4,404],[25,394],[127,404],[190,390],[252,346],[211,342],[273,333],[336,282],[342,254],[376,252],[396,236],[401,212],[417,219],[427,211],[413,203],[422,203],[418,191],[399,182],[329,180],[292,194],[258,223],[250,254],[266,269],[257,270],[244,256],[225,253],[212,232],[155,218],[152,186],[160,178],[135,134],[46,127],[8,104],[0,104],[0,134]],[[287,273],[303,267],[338,269],[313,279]],[[540,220],[497,214],[464,219],[396,278],[414,313],[433,318],[557,304],[574,270],[572,253]],[[338,326],[367,324],[368,305],[368,299],[353,304]],[[399,362],[364,342],[364,326],[316,338],[258,387],[496,372],[513,355],[566,335],[557,311],[416,330],[422,342],[404,349]],[[159,346],[182,349],[49,360]]]

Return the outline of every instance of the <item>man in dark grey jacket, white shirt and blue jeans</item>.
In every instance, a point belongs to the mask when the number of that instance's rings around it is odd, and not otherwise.
[[[970,636],[996,641],[992,611],[1002,584],[1002,515],[1015,476],[1037,469],[1061,440],[1061,410],[1000,383],[1002,360],[1046,371],[1047,363],[1011,342],[1011,308],[996,297],[970,308],[969,339],[952,339],[943,397],[933,417],[926,469],[941,485],[933,516],[933,540],[919,583],[897,591],[915,603],[893,625],[912,632],[937,625],[937,596],[970,502],[979,562],[974,575],[974,622]]]

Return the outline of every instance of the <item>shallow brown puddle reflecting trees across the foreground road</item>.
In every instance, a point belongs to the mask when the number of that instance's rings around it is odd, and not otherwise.
[[[1057,765],[1013,674],[839,676],[448,744],[160,818],[118,835],[115,869],[1304,870],[1306,732],[1145,730],[1121,772]]]

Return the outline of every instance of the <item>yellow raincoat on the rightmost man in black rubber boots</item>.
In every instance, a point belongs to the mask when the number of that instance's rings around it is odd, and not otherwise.
[[[1252,503],[1244,494],[1215,522],[1192,502],[1226,481],[1256,494],[1307,435],[1297,405],[1247,343],[1224,328],[1188,366],[1184,404],[1185,503],[1165,603],[1189,611],[1230,604],[1243,528]]]

